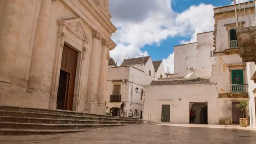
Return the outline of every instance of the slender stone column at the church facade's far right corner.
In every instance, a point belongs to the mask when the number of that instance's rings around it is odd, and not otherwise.
[[[107,69],[109,62],[109,44],[107,40],[102,40],[101,65],[99,73],[99,89],[97,97],[97,114],[105,115],[105,93],[107,88]]]

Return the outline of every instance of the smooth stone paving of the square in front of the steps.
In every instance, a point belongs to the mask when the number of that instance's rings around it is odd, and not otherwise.
[[[256,144],[256,131],[139,124],[59,135],[0,136],[0,144]]]

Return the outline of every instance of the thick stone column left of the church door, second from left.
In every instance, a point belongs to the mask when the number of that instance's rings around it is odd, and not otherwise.
[[[44,67],[47,66],[47,40],[50,16],[51,0],[41,0],[30,67],[29,90],[40,90],[42,86]]]

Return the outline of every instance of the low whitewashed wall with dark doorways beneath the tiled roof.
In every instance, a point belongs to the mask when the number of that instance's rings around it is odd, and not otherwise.
[[[218,99],[218,91],[214,84],[145,86],[144,89],[144,112],[151,113],[151,120],[155,122],[161,120],[162,104],[171,105],[170,123],[189,123],[189,103],[207,102],[208,124],[220,124],[219,120],[221,124],[231,124],[232,101],[245,100]],[[147,116],[145,118],[147,119]],[[223,120],[225,123],[222,123]]]

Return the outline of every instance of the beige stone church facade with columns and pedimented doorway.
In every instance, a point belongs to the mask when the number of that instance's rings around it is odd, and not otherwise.
[[[105,114],[109,0],[1,0],[0,105]]]

